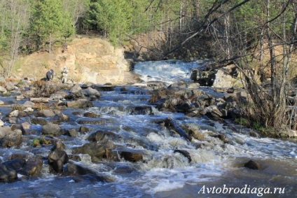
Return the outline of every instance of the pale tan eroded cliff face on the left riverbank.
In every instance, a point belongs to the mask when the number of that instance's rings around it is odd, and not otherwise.
[[[130,63],[124,57],[123,48],[114,48],[101,38],[76,36],[67,43],[67,50],[55,48],[53,53],[34,52],[22,57],[14,76],[21,78],[44,78],[53,69],[59,80],[64,66],[69,69],[69,79],[76,83],[137,83],[139,78],[130,72]]]

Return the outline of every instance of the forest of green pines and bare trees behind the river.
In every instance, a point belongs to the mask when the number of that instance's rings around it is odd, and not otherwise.
[[[251,94],[250,118],[297,129],[296,17],[296,0],[0,0],[0,76],[10,75],[18,57],[54,52],[74,34],[120,46],[161,32],[147,59],[235,64]]]

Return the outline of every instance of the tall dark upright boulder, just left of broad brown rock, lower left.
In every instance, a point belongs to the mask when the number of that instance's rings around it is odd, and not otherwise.
[[[57,173],[62,173],[63,165],[68,162],[69,158],[64,150],[55,149],[48,155],[48,164]]]

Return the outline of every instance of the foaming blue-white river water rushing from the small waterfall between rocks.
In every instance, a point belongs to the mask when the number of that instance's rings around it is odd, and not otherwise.
[[[108,138],[123,146],[122,149],[143,153],[144,162],[92,163],[89,155],[81,155],[81,162],[75,162],[113,178],[111,183],[98,182],[87,176],[77,181],[74,176],[50,174],[45,163],[41,176],[0,183],[0,197],[296,197],[296,141],[251,137],[244,133],[244,128],[237,133],[205,117],[188,118],[182,113],[160,112],[155,106],[151,111],[132,111],[134,106],[150,106],[146,81],[162,80],[168,85],[180,80],[188,81],[189,70],[199,64],[141,62],[134,71],[142,76],[144,83],[130,85],[125,91],[116,87],[113,91],[101,92],[102,97],[93,101],[94,107],[85,110],[106,120],[104,125],[85,126],[93,132],[101,129],[120,136],[120,139]],[[212,92],[211,89],[208,91]],[[77,122],[85,118],[73,115],[74,111],[77,110],[63,111],[70,116],[70,122],[62,123],[62,128],[78,129],[81,126]],[[196,127],[207,138],[186,141],[160,125],[158,120],[165,118],[172,118],[179,125]],[[225,134],[229,143],[207,136],[210,133]],[[87,143],[87,137],[87,134],[76,138],[63,136],[67,153],[71,154],[71,148]],[[177,149],[188,151],[191,160],[179,152],[174,153]],[[33,153],[24,144],[20,149],[0,149],[1,159],[5,160],[20,150]],[[261,163],[263,169],[243,168],[243,164],[251,159]],[[264,195],[267,189],[270,192]],[[239,190],[241,192],[237,192]]]

